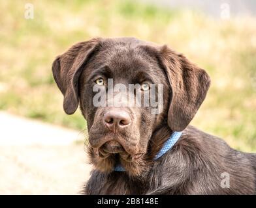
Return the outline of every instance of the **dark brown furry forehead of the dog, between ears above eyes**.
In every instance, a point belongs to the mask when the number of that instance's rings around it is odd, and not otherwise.
[[[89,60],[82,77],[91,77],[94,72],[103,72],[105,68],[107,77],[120,78],[133,81],[143,76],[143,73],[154,77],[159,75],[159,63],[152,54],[148,53],[147,42],[136,38],[108,38],[103,39],[97,46],[95,54]],[[138,77],[138,72],[141,75]],[[140,73],[142,72],[142,73]],[[103,73],[104,74],[104,73]],[[105,73],[106,74],[106,73]],[[158,77],[158,78],[157,78]],[[163,78],[163,77],[162,77]]]

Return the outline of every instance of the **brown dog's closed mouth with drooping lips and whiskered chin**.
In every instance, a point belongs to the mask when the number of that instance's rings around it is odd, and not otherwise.
[[[97,170],[112,172],[117,166],[122,166],[130,175],[139,175],[142,170],[145,170],[144,155],[146,151],[139,148],[136,140],[127,141],[125,137],[114,137],[109,134],[90,136],[89,155],[91,163]],[[93,144],[95,145],[93,146]]]

